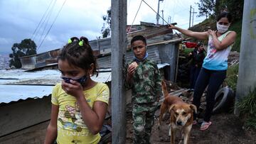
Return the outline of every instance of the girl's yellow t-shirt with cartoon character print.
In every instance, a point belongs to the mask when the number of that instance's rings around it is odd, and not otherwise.
[[[85,99],[91,109],[95,101],[103,101],[108,104],[110,89],[107,84],[97,83],[92,89],[84,91]],[[66,94],[61,88],[61,84],[53,87],[51,102],[59,106],[58,111],[58,136],[57,143],[98,143],[100,133],[93,135],[82,121],[82,115],[78,108],[78,101],[74,96]]]

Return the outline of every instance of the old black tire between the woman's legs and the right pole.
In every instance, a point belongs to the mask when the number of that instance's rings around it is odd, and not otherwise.
[[[234,93],[229,87],[223,87],[215,94],[213,113],[228,112],[234,104]]]

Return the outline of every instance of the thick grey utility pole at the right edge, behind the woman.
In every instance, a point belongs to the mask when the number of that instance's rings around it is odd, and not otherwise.
[[[240,45],[238,84],[235,102],[249,94],[256,87],[256,1],[245,0],[242,14],[242,35]],[[235,109],[235,114],[240,112]]]

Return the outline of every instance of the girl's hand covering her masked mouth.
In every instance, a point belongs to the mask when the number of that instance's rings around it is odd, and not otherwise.
[[[82,85],[79,82],[76,82],[75,80],[70,79],[70,83],[66,83],[64,80],[61,82],[62,89],[72,96],[75,96],[75,98],[78,98],[78,96],[82,96],[83,90]]]

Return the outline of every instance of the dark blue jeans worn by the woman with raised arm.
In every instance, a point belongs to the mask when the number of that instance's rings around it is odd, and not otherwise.
[[[227,70],[207,70],[203,67],[201,68],[198,79],[196,80],[192,104],[194,104],[197,109],[199,108],[203,92],[208,86],[206,94],[206,113],[203,116],[203,121],[210,121],[210,116],[215,104],[215,94],[225,79],[226,71]],[[196,113],[194,113],[194,118],[196,119]]]

